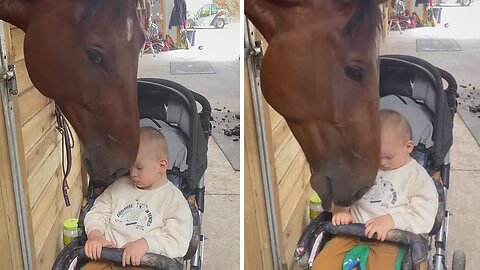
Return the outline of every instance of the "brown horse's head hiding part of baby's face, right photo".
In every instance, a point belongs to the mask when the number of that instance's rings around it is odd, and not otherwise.
[[[379,2],[245,0],[269,44],[263,94],[300,143],[325,209],[358,200],[379,166]]]

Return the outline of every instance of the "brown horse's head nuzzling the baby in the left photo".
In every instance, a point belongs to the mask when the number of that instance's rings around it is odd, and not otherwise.
[[[25,31],[33,84],[55,100],[84,144],[92,179],[112,182],[138,149],[137,66],[144,33],[134,0],[0,0]]]

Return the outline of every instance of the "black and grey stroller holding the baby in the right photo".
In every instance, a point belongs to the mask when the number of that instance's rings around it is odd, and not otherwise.
[[[415,143],[412,157],[432,176],[439,195],[439,209],[428,236],[396,229],[387,234],[385,241],[407,247],[403,270],[448,268],[446,202],[456,97],[457,83],[447,71],[413,56],[380,57],[380,109],[397,111],[406,118]],[[304,229],[294,254],[304,269],[312,267],[316,255],[334,235],[365,237],[364,224],[333,226],[331,217],[331,213],[323,212]],[[465,270],[465,259],[462,251],[455,251],[452,269]]]

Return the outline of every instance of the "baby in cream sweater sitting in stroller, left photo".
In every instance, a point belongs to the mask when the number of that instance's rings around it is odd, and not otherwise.
[[[192,213],[182,192],[167,179],[167,157],[163,135],[152,127],[141,128],[130,177],[109,186],[85,217],[89,258],[100,258],[102,247],[124,248],[122,266],[139,265],[146,252],[170,258],[185,255]],[[102,269],[94,265],[84,269]]]

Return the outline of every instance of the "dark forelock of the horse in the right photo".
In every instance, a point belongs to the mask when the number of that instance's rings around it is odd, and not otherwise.
[[[377,33],[382,29],[382,16],[378,9],[378,2],[376,0],[364,0],[359,2],[361,3],[358,3],[357,11],[347,22],[343,31],[347,36],[353,39],[354,34],[362,27],[365,27],[367,31],[363,34],[368,35],[368,40],[376,41]]]

